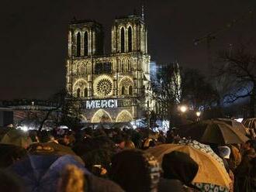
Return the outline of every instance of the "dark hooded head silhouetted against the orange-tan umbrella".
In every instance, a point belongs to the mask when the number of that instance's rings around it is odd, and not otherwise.
[[[180,180],[190,186],[199,170],[199,165],[188,154],[173,151],[164,155],[162,169],[164,178]]]

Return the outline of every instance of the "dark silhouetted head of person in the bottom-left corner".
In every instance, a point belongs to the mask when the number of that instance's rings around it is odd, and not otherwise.
[[[25,192],[20,178],[7,170],[0,170],[0,191]]]

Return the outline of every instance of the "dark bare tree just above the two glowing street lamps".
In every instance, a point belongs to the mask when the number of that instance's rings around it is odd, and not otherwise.
[[[194,111],[206,110],[216,106],[218,94],[212,84],[199,70],[187,69],[182,74],[182,101]]]

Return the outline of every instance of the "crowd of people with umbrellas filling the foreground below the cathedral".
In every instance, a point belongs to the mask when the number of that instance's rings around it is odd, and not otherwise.
[[[148,152],[178,143],[181,138],[171,130],[20,131],[20,145],[5,142],[8,132],[0,137],[0,191],[210,191],[193,183],[199,164],[188,154],[172,151],[159,162]],[[256,191],[254,139],[211,147],[232,180],[223,191]]]

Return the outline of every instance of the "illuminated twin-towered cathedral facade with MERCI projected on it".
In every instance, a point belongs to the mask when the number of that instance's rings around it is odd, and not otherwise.
[[[102,25],[69,25],[66,89],[78,101],[85,122],[130,122],[150,101],[147,29],[139,15],[115,19],[111,53],[103,53]]]

